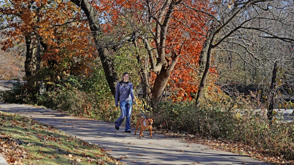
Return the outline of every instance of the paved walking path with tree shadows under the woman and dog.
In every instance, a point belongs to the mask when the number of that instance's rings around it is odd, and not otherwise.
[[[116,130],[113,123],[69,116],[49,109],[0,103],[0,111],[30,117],[44,124],[53,125],[69,135],[99,144],[111,150],[108,153],[117,159],[122,157],[121,161],[126,164],[268,164],[247,156],[209,149],[205,145],[190,144],[161,134],[153,134],[151,138],[147,131],[144,131],[145,137],[139,138],[138,133],[136,136],[133,133],[124,133],[124,127]],[[134,132],[134,128],[132,131]],[[188,145],[191,147],[187,147]]]

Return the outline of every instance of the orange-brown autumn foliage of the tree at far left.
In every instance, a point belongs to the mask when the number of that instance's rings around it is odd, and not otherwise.
[[[10,29],[4,32],[9,39],[1,42],[2,50],[25,43],[25,36],[32,41],[31,49],[36,49],[40,37],[46,47],[41,48],[41,68],[50,63],[48,67],[57,75],[88,72],[96,48],[91,43],[88,22],[76,5],[59,0],[6,0],[4,4],[0,12],[7,15]]]

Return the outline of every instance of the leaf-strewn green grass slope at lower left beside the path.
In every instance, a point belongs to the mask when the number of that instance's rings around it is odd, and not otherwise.
[[[0,153],[10,164],[122,164],[103,148],[19,115],[0,114]]]

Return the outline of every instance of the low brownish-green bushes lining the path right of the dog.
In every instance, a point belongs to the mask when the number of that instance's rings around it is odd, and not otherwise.
[[[264,108],[261,111],[248,109],[256,104],[249,97],[226,98],[222,102],[207,101],[197,109],[193,103],[161,103],[153,112],[156,120],[154,126],[243,142],[257,150],[294,159],[293,122],[285,123],[275,118],[270,124]]]

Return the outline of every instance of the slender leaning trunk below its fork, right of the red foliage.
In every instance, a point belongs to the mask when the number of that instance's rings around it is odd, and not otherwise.
[[[208,51],[207,51],[206,54],[207,54],[207,57],[206,57],[205,70],[203,72],[201,82],[199,84],[197,96],[196,96],[196,102],[195,102],[195,107],[196,108],[199,107],[199,105],[200,105],[200,99],[202,97],[203,90],[204,90],[204,87],[206,85],[207,75],[209,73],[209,68],[210,68],[210,63],[211,63],[211,47],[210,46],[209,46]]]

